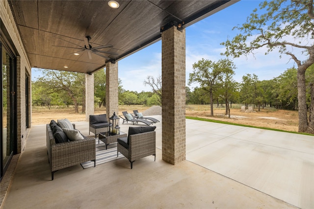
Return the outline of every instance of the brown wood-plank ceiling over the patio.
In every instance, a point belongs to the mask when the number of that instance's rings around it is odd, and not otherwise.
[[[30,64],[35,68],[92,73],[161,39],[160,31],[185,28],[237,0],[117,0],[113,9],[103,0],[9,0]],[[109,59],[87,51],[101,50]],[[66,46],[66,47],[65,47]],[[68,68],[65,69],[64,66]]]

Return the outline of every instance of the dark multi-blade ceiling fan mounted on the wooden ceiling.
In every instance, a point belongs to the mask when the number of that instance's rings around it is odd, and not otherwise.
[[[60,39],[60,38],[58,38]],[[108,45],[104,45],[104,46],[96,46],[96,47],[92,47],[89,43],[89,41],[91,40],[92,38],[90,36],[86,36],[84,37],[84,46],[79,46],[77,44],[74,44],[72,42],[69,42],[69,41],[66,41],[64,39],[60,39],[62,41],[65,41],[65,42],[68,42],[70,44],[73,44],[73,45],[76,45],[78,47],[70,47],[70,46],[58,46],[58,47],[66,47],[66,48],[75,48],[75,49],[80,49],[79,51],[76,51],[76,52],[73,52],[71,54],[76,54],[78,52],[81,52],[81,51],[86,51],[87,52],[87,55],[88,55],[88,58],[89,59],[92,59],[92,53],[98,55],[98,56],[101,56],[101,57],[104,57],[105,59],[107,60],[110,60],[109,57],[105,56],[104,54],[101,54],[101,53],[105,53],[105,54],[114,54],[114,55],[119,55],[118,53],[115,53],[115,52],[110,52],[110,51],[102,51],[102,50],[99,50],[99,49],[102,49],[102,48],[108,48],[108,47],[112,47],[111,44],[108,44]]]

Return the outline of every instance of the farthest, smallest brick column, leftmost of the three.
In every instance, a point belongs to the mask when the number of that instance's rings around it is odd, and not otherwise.
[[[85,74],[85,116],[86,121],[94,115],[94,74]]]

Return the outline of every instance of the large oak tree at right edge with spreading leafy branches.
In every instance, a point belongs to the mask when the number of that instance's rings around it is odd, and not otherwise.
[[[239,57],[254,54],[255,49],[262,47],[267,48],[266,54],[274,49],[287,54],[297,65],[298,131],[314,133],[313,124],[309,125],[314,121],[307,117],[305,82],[305,72],[314,63],[313,0],[266,0],[260,4],[260,9],[266,12],[260,15],[255,9],[246,23],[235,27],[241,33],[222,43],[226,46],[224,54]],[[303,53],[295,53],[297,49]]]

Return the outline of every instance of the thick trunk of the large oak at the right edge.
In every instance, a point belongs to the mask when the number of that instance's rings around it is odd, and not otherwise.
[[[306,105],[305,70],[305,68],[299,67],[297,71],[299,132],[307,132],[309,128]]]

